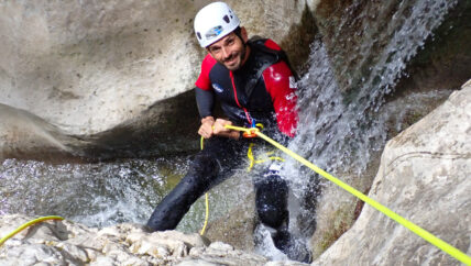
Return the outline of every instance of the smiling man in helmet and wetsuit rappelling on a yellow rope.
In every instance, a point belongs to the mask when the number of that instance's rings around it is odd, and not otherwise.
[[[155,208],[147,222],[153,231],[175,229],[190,206],[240,164],[253,140],[224,125],[262,123],[264,134],[283,143],[294,136],[297,125],[295,79],[277,44],[249,41],[238,16],[223,2],[210,3],[197,13],[195,33],[208,52],[195,89],[201,117],[198,133],[206,138],[205,148]],[[215,118],[215,100],[220,101],[227,118]],[[271,229],[278,250],[292,259],[308,261],[306,252],[299,257],[288,232],[288,188],[278,175],[280,165],[266,168],[254,178],[259,218]]]

